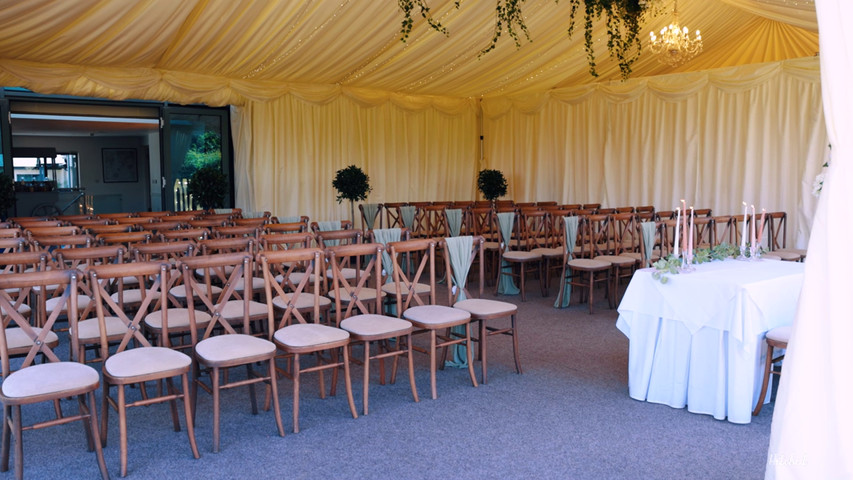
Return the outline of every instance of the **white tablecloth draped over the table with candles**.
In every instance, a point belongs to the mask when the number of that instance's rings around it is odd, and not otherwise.
[[[629,341],[631,398],[749,423],[761,393],[764,333],[794,321],[801,263],[726,260],[634,274],[617,328]],[[767,398],[769,398],[768,389]]]

